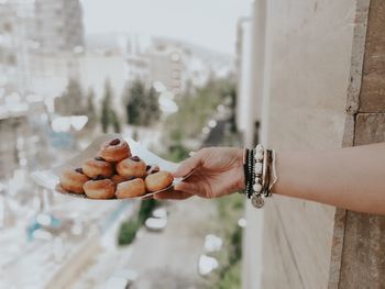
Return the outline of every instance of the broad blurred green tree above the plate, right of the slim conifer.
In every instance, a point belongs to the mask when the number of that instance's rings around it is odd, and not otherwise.
[[[123,100],[129,124],[148,126],[158,121],[161,116],[158,96],[153,88],[146,89],[141,80],[135,80],[125,87]]]

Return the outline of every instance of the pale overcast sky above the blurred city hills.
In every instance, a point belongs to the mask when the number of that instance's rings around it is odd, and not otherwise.
[[[234,54],[237,21],[251,0],[81,0],[86,34],[128,32]]]

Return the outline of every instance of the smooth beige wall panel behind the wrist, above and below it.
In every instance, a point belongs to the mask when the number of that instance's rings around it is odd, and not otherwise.
[[[270,146],[342,145],[354,16],[351,0],[268,1],[263,125]],[[273,199],[264,210],[262,288],[327,288],[334,208]]]

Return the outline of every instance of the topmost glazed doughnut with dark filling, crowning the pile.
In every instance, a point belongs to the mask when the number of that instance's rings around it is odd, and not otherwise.
[[[99,156],[107,162],[120,162],[131,156],[130,146],[122,138],[114,138],[102,144]]]

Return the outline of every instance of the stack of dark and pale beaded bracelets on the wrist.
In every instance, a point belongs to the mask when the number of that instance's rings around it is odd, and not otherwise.
[[[275,168],[275,151],[264,149],[257,145],[253,149],[244,149],[244,193],[255,208],[262,208],[265,198],[272,196],[272,188],[277,181]]]

